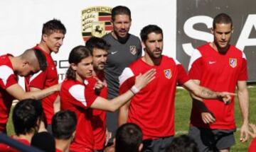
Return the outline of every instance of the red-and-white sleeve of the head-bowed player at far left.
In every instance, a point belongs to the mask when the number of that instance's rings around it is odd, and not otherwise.
[[[18,83],[17,77],[14,74],[14,71],[9,66],[0,66],[0,71],[4,71],[4,72],[0,72],[1,88],[6,89],[9,86],[12,86]]]

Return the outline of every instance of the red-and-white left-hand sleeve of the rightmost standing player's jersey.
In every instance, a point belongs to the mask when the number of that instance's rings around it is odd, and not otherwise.
[[[202,75],[202,58],[198,49],[195,49],[191,55],[191,59],[188,66],[188,75],[192,79],[201,80]]]

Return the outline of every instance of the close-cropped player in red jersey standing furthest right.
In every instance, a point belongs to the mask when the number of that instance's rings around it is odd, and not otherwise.
[[[229,44],[233,23],[227,14],[215,16],[211,32],[214,41],[194,50],[188,68],[189,76],[212,90],[234,93],[237,86],[243,122],[240,141],[245,142],[248,139],[249,111],[245,54]],[[219,100],[202,100],[193,96],[189,134],[196,140],[200,151],[229,151],[230,146],[235,144],[234,105],[234,98],[226,105]]]

